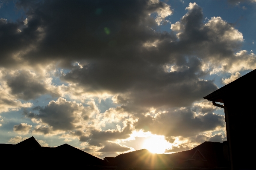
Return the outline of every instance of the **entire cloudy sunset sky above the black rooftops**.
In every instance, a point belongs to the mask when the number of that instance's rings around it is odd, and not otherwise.
[[[255,20],[256,0],[0,0],[0,143],[104,158],[226,141],[203,97],[256,69]]]

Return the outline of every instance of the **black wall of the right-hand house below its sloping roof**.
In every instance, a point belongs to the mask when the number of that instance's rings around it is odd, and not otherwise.
[[[224,106],[227,107],[226,124],[229,124],[227,135],[234,170],[255,168],[255,104],[253,100],[241,101],[241,98],[246,99],[245,96],[238,97],[237,94],[224,99]]]

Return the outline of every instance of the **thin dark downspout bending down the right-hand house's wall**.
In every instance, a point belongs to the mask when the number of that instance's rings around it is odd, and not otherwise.
[[[233,158],[232,158],[232,149],[231,149],[231,140],[230,140],[230,122],[229,122],[229,117],[228,117],[228,112],[227,112],[227,107],[221,104],[215,103],[215,101],[212,101],[212,104],[217,107],[221,107],[224,109],[225,113],[225,121],[226,121],[226,130],[227,130],[227,139],[229,143],[229,150],[230,150],[230,164],[231,164],[231,170],[234,170],[233,166]]]

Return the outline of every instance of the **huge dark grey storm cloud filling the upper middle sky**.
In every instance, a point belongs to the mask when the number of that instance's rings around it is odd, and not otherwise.
[[[22,44],[35,47],[20,55],[21,60],[60,61],[59,66],[73,67],[62,75],[63,81],[86,92],[126,93],[129,103],[142,107],[180,107],[200,100],[217,89],[212,81],[199,79],[206,74],[201,59],[232,57],[240,46],[222,40],[230,25],[205,26],[202,9],[193,4],[180,20],[180,29],[172,26],[179,40],[174,32],[154,30],[158,23],[149,13],[165,10],[163,2],[41,1],[29,8],[27,1],[18,1],[18,6],[24,4],[28,20],[20,33],[31,32],[36,43],[24,39]],[[14,23],[3,22],[3,29],[8,24]],[[6,36],[18,38],[20,33]],[[82,68],[73,66],[75,61]]]

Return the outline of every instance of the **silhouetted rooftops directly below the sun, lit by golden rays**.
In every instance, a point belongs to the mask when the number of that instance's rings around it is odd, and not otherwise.
[[[148,150],[137,150],[116,157],[105,157],[104,161],[118,170],[187,170],[229,169],[227,141],[206,141],[191,150],[173,154],[153,154]]]

